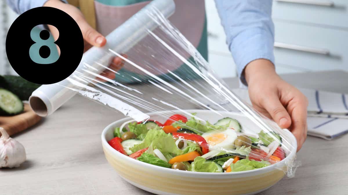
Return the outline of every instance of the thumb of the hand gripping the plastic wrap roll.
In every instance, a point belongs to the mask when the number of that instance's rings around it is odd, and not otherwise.
[[[105,37],[92,28],[85,19],[81,19],[78,23],[84,39],[91,45],[102,47],[106,43]]]

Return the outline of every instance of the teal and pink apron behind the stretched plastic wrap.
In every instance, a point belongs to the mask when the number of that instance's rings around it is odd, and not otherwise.
[[[108,35],[115,28],[124,23],[127,19],[132,17],[136,12],[146,6],[150,1],[144,0],[75,0],[79,1],[78,6],[81,12],[84,14],[87,22],[94,27],[103,36]],[[112,3],[112,5],[106,5],[102,2]],[[108,2],[109,1],[109,2]],[[140,2],[139,2],[140,1]],[[137,2],[137,3],[134,3]],[[205,17],[205,3],[204,1],[197,0],[174,0],[175,12],[169,17],[169,21],[179,29],[179,31],[195,46],[202,56],[207,60],[207,30],[206,30],[206,17]],[[72,5],[77,6],[76,2],[69,1]],[[133,3],[127,5],[127,3]],[[114,6],[117,5],[117,6]],[[136,46],[146,45],[146,43],[139,43]],[[156,48],[156,45],[152,45],[152,48]],[[136,49],[136,48],[135,48]],[[190,56],[185,56],[190,58]],[[151,62],[150,58],[146,59],[150,64],[156,66],[160,60]],[[192,60],[192,59],[191,59]],[[181,78],[185,78],[185,74],[188,74],[189,67],[182,64],[182,61],[176,59],[176,62],[171,61],[170,65],[165,66],[161,64],[161,67],[157,70],[153,68],[147,69],[151,73],[168,80],[168,70],[172,71]],[[146,76],[135,68],[125,67],[118,71],[120,75],[116,76],[116,80],[122,83],[138,83],[139,78],[141,80],[148,79]],[[164,73],[164,74],[163,74]],[[133,78],[138,79],[133,79]]]

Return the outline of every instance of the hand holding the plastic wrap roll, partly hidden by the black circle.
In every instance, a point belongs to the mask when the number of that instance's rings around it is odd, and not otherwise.
[[[69,14],[78,24],[81,29],[82,36],[84,37],[84,52],[90,49],[92,46],[102,47],[106,44],[105,37],[98,33],[94,28],[92,28],[86,21],[82,12],[76,8],[75,6],[69,5],[67,3],[62,2],[61,0],[48,0],[44,6],[46,7],[54,7],[60,9],[67,14]],[[48,25],[50,32],[52,33],[55,40],[59,36],[58,29],[54,26]],[[59,52],[59,51],[58,51]],[[115,71],[118,71],[123,66],[123,60],[121,58],[114,58],[109,68],[111,70],[106,69],[101,75],[108,77],[110,79],[115,78]]]

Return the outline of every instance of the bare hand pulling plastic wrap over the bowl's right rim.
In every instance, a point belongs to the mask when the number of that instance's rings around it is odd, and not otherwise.
[[[250,62],[244,74],[253,107],[291,130],[299,151],[307,137],[307,97],[280,78],[269,60]]]

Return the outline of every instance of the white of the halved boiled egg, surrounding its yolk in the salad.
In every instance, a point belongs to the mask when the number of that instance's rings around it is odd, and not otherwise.
[[[209,144],[209,151],[221,150],[221,149],[235,149],[235,140],[237,139],[237,133],[233,129],[226,129],[224,131],[210,131],[202,135],[202,137],[208,142],[208,138],[215,134],[224,134],[225,138],[222,142],[215,145]]]

